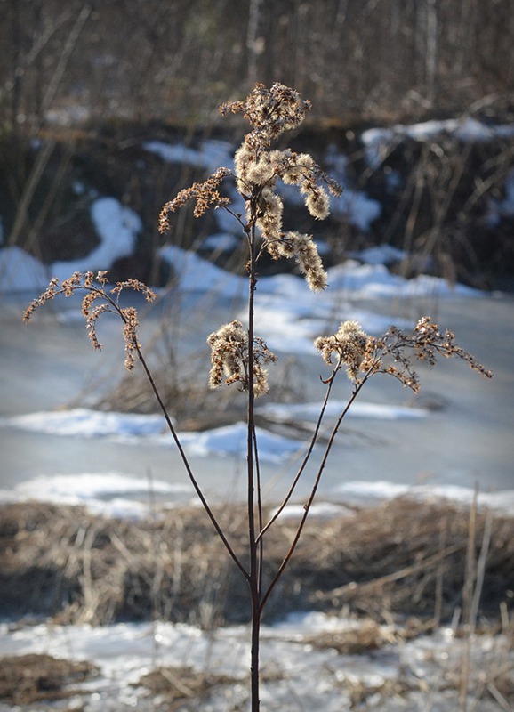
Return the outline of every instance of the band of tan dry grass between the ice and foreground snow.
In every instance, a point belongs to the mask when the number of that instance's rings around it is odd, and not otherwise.
[[[242,553],[244,511],[218,514]],[[467,581],[476,591],[479,584],[478,627],[499,621],[501,606],[508,611],[513,600],[514,520],[489,522],[483,581],[467,568],[466,553],[478,561],[486,514],[476,514],[471,539],[469,522],[467,512],[449,504],[402,498],[329,522],[313,519],[269,601],[269,619],[346,608],[379,622],[411,617],[438,625],[466,607]],[[284,520],[270,531],[268,571],[281,561],[293,530]],[[130,522],[79,507],[4,505],[0,587],[0,614],[14,618],[93,624],[165,619],[201,627],[248,619],[245,582],[196,507]]]

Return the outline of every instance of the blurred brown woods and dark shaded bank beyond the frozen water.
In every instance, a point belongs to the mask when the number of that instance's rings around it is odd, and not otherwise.
[[[510,288],[513,0],[1,0],[0,12],[2,247],[46,265],[87,255],[92,200],[109,196],[141,219],[113,277],[164,284],[158,212],[205,166],[144,142],[237,146],[244,126],[218,106],[279,81],[313,103],[286,140],[322,163],[335,148],[347,190],[378,206],[326,223],[329,262],[388,244],[406,276]],[[185,247],[213,231],[181,220]]]

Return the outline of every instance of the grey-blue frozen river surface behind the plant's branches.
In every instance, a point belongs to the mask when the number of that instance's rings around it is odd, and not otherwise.
[[[116,368],[120,358],[123,360],[116,321],[100,329],[100,340],[106,346],[102,352],[93,352],[84,324],[58,318],[58,303],[51,305],[53,311],[46,307],[40,318],[24,325],[20,315],[30,298],[2,298],[0,417],[4,419],[60,409],[79,392],[92,392],[97,384],[108,383],[121,373]],[[222,306],[211,304],[207,311],[214,327],[227,320],[226,312],[225,316],[216,313]],[[411,300],[407,311],[414,323],[428,310],[426,303]],[[414,404],[428,409],[426,417],[388,419],[361,413],[361,417],[345,420],[325,471],[322,497],[338,498],[341,486],[349,481],[478,485],[481,491],[514,488],[514,300],[510,295],[449,297],[438,303],[437,312],[434,318],[441,328],[453,329],[457,342],[491,368],[494,379],[483,379],[462,362],[444,360],[433,371],[420,371],[422,391],[414,402],[412,394],[393,379],[373,379],[362,401]],[[188,318],[190,338],[205,344],[205,335],[213,327],[205,325],[205,310],[194,308],[192,313],[196,321]],[[323,371],[321,361],[306,358],[302,368],[313,376],[309,400],[320,397],[323,391],[317,376]],[[337,398],[349,395],[349,384],[338,388]],[[176,451],[144,439],[127,444],[113,438],[34,433],[5,425],[4,420],[0,449],[0,487],[7,490],[41,475],[121,473],[141,481],[143,492],[151,477],[173,485],[173,497],[189,498],[191,493]],[[227,499],[244,493],[245,462],[241,458],[194,455],[191,463],[212,496]],[[278,497],[291,471],[286,465],[263,465],[263,473],[269,497]],[[309,473],[303,492],[308,482]]]

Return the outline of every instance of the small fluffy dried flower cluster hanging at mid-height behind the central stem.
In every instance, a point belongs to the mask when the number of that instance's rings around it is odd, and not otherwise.
[[[224,324],[208,336],[211,346],[211,371],[209,385],[217,388],[223,377],[225,384],[239,383],[242,391],[248,391],[248,334],[240,321]],[[275,361],[261,338],[253,340],[253,392],[256,398],[269,391],[268,370],[264,364]]]

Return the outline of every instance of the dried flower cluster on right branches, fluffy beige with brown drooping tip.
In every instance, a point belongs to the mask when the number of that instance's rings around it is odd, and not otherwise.
[[[438,356],[456,357],[482,376],[493,376],[474,356],[455,343],[453,332],[446,329],[444,334],[441,333],[430,317],[422,317],[412,334],[392,326],[380,338],[367,336],[357,321],[345,321],[336,334],[318,338],[315,346],[329,365],[333,365],[333,355],[336,356],[333,373],[345,364],[350,380],[357,383],[360,382],[359,373],[365,378],[373,373],[385,373],[418,392],[418,376],[406,351],[414,352],[416,360],[425,361],[430,367],[435,366]]]

